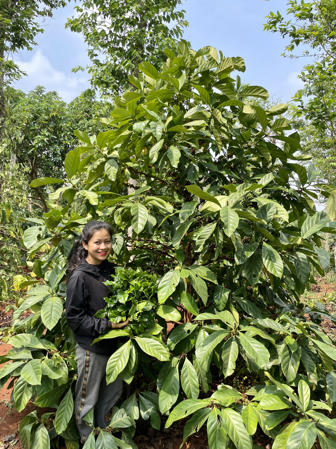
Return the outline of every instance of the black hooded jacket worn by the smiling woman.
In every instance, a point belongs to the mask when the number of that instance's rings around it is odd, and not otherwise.
[[[107,260],[91,265],[83,259],[68,281],[65,306],[68,325],[74,331],[76,342],[97,354],[111,355],[117,349],[116,339],[102,340],[91,346],[95,338],[112,329],[108,318],[96,318],[94,314],[106,306],[104,298],[110,288],[103,282],[115,273],[116,266]]]

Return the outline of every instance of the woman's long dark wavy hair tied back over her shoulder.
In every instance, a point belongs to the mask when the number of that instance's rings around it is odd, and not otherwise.
[[[105,229],[112,237],[112,228],[105,221],[89,221],[83,228],[80,238],[77,240],[75,245],[72,247],[68,255],[68,270],[72,273],[76,270],[83,259],[87,257],[87,249],[84,248],[83,242],[87,245],[90,238],[96,231],[101,231]]]

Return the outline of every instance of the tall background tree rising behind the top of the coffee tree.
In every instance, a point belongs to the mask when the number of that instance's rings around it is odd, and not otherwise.
[[[128,75],[149,61],[163,65],[166,48],[182,37],[185,11],[177,10],[181,0],[84,0],[75,9],[78,16],[67,27],[82,33],[92,65],[91,84],[104,96],[134,89]],[[80,69],[81,67],[78,67]]]

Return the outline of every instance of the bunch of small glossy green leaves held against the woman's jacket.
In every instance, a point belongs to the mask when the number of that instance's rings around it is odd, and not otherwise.
[[[108,317],[113,323],[120,323],[129,318],[126,329],[135,334],[156,325],[154,309],[158,305],[158,278],[145,271],[119,269],[112,276],[113,281],[106,281],[111,286],[111,296],[105,298],[107,306],[96,312],[98,318]],[[125,329],[124,329],[125,330]]]

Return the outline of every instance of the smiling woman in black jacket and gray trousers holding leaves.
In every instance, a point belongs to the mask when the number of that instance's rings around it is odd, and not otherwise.
[[[117,349],[116,339],[102,340],[92,345],[99,335],[128,324],[128,319],[115,324],[108,318],[94,316],[106,306],[104,297],[110,289],[103,282],[115,272],[116,265],[107,261],[112,249],[111,237],[112,229],[108,223],[90,221],[68,256],[70,276],[66,318],[77,342],[75,413],[82,443],[92,431],[83,421],[84,416],[94,407],[94,425],[105,429],[108,426],[106,415],[123,390],[123,381],[119,376],[109,385],[105,377],[107,361]]]

